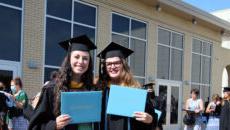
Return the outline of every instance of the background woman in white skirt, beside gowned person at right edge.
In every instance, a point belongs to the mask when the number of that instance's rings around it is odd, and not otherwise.
[[[209,114],[208,123],[206,130],[219,130],[219,112],[217,111],[220,103],[220,96],[218,94],[212,95],[212,101],[208,104],[206,108],[206,113]]]

